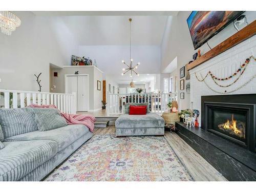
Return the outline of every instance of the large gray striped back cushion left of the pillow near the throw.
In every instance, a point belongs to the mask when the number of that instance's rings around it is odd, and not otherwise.
[[[36,131],[34,117],[35,113],[31,108],[0,109],[0,124],[4,137]]]

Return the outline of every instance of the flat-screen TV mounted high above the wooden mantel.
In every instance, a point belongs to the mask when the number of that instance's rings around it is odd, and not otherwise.
[[[187,25],[195,50],[219,33],[244,11],[192,11]]]

